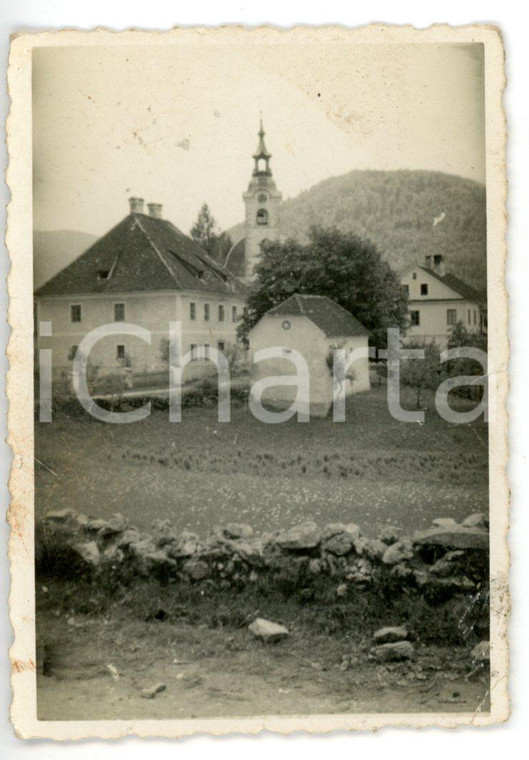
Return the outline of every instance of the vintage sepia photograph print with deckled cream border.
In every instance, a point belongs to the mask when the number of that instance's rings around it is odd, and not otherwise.
[[[504,719],[499,38],[64,35],[19,40],[37,724]]]

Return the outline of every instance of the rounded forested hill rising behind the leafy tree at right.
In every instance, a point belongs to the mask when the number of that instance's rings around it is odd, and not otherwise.
[[[370,238],[397,270],[442,253],[447,270],[485,287],[485,188],[472,180],[430,171],[349,172],[282,204],[283,235],[304,240],[313,224]],[[242,225],[228,232],[235,241]]]

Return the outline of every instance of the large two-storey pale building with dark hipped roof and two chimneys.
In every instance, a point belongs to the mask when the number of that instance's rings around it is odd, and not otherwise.
[[[116,334],[100,340],[90,354],[102,372],[127,366],[132,374],[159,372],[166,365],[163,342],[169,323],[182,327],[182,354],[190,351],[190,374],[201,374],[210,347],[236,342],[245,287],[191,238],[162,218],[160,204],[130,199],[130,213],[35,294],[36,324],[51,323],[51,335],[37,331],[39,348],[53,350],[52,366],[70,369],[84,336],[113,324]],[[151,344],[120,335],[120,323],[151,333]],[[192,370],[192,372],[191,372]],[[187,371],[187,370],[186,370]]]

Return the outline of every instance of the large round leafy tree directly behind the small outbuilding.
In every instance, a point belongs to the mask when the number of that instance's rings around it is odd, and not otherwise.
[[[350,311],[386,344],[388,327],[406,327],[407,299],[399,279],[376,246],[350,232],[313,227],[306,245],[264,241],[239,334],[293,293],[322,295]]]

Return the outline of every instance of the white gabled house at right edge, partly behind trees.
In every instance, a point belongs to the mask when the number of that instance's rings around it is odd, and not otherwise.
[[[408,341],[435,341],[446,348],[458,322],[472,333],[484,330],[485,296],[445,272],[440,254],[426,256],[424,266],[413,264],[405,269],[400,281],[408,296]]]

